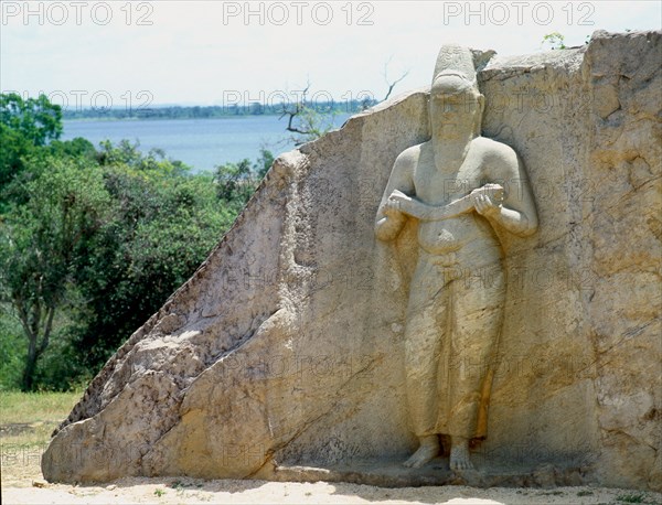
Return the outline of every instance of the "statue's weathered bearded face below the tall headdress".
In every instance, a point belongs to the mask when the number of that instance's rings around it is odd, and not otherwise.
[[[458,93],[455,95],[433,94],[430,119],[436,135],[444,138],[465,138],[480,128],[482,114],[481,95]],[[478,133],[478,132],[477,132]]]

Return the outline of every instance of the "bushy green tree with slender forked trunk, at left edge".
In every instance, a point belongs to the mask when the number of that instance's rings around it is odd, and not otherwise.
[[[73,266],[88,253],[109,203],[100,170],[72,159],[45,160],[24,185],[26,204],[6,213],[0,227],[0,301],[28,340],[21,388],[33,387],[58,310],[75,289]]]

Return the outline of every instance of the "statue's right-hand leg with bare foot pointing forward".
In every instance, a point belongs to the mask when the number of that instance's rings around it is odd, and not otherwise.
[[[505,276],[501,262],[467,270],[449,286],[450,359],[447,426],[451,437],[450,466],[470,469],[469,441],[478,432],[483,385],[493,364],[503,324]]]

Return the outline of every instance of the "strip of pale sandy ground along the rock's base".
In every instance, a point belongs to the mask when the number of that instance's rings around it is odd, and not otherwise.
[[[23,485],[21,485],[23,484]],[[122,479],[71,486],[43,480],[2,485],[3,504],[662,504],[662,494],[599,487],[383,488],[343,483]]]

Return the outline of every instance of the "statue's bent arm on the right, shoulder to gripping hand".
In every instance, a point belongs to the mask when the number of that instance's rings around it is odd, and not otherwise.
[[[473,192],[476,211],[512,234],[522,237],[533,235],[538,219],[524,163],[511,148],[502,144],[501,151],[496,161],[491,163],[492,173],[488,173],[488,176],[505,181],[505,198],[496,204],[489,196]]]

